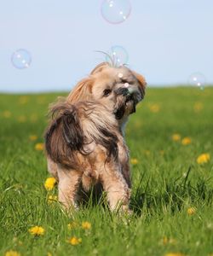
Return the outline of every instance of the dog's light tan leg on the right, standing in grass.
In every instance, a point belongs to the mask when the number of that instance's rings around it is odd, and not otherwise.
[[[116,164],[106,163],[101,170],[101,183],[107,192],[107,200],[112,211],[129,211],[130,189]]]

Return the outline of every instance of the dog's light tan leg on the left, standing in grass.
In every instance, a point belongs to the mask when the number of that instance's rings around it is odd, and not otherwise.
[[[82,173],[58,166],[59,201],[66,209],[77,207],[79,183]]]

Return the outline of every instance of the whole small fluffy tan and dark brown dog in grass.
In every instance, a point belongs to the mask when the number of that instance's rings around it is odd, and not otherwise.
[[[80,188],[88,191],[101,183],[111,210],[128,211],[131,182],[124,126],[145,87],[140,74],[104,62],[65,101],[52,106],[45,148],[66,208],[77,206]]]

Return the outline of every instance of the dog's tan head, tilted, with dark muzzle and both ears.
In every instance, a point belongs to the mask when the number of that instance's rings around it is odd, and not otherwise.
[[[97,101],[122,120],[135,112],[135,106],[145,95],[146,81],[138,73],[127,67],[110,67],[107,62],[101,63],[80,81],[67,97],[75,104],[80,101]]]

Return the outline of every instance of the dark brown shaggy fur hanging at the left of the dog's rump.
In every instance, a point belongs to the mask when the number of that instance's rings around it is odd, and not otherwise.
[[[74,151],[83,150],[83,131],[79,124],[77,109],[65,109],[60,105],[53,109],[57,117],[44,134],[45,148],[49,157],[64,166],[75,161]]]

